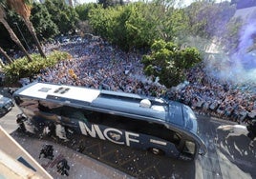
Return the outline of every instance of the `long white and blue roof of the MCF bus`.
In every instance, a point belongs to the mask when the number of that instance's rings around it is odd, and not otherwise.
[[[88,89],[67,85],[34,82],[18,89],[15,95],[41,100],[53,100],[70,106],[83,106],[127,113],[143,118],[164,121],[184,127],[181,104],[160,98],[110,90]],[[145,103],[145,104],[143,104]],[[149,106],[147,106],[149,103]],[[169,109],[171,111],[169,111]]]

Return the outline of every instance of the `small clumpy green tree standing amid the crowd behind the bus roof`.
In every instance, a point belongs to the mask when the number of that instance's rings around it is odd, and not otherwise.
[[[160,84],[166,88],[175,87],[184,80],[184,70],[201,62],[200,53],[194,48],[180,50],[172,43],[156,41],[151,47],[151,54],[144,55],[142,63],[146,75],[160,78]]]

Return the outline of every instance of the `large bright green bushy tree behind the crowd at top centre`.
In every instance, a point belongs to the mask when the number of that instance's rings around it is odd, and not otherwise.
[[[122,50],[148,49],[160,32],[151,4],[142,2],[127,6],[98,6],[89,12],[90,25],[96,34],[116,44]]]

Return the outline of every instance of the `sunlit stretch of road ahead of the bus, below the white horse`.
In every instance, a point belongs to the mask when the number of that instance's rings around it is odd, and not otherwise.
[[[199,116],[201,136],[208,152],[196,161],[195,178],[256,178],[256,144],[254,149],[249,149],[250,140],[246,136],[225,141],[227,132],[217,130],[218,126],[230,123]]]

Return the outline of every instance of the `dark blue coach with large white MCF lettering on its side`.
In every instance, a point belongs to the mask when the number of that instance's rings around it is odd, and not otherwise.
[[[206,152],[194,112],[175,101],[39,82],[18,89],[13,97],[35,129],[51,123],[63,129],[57,135],[61,138],[72,130],[183,160]]]

